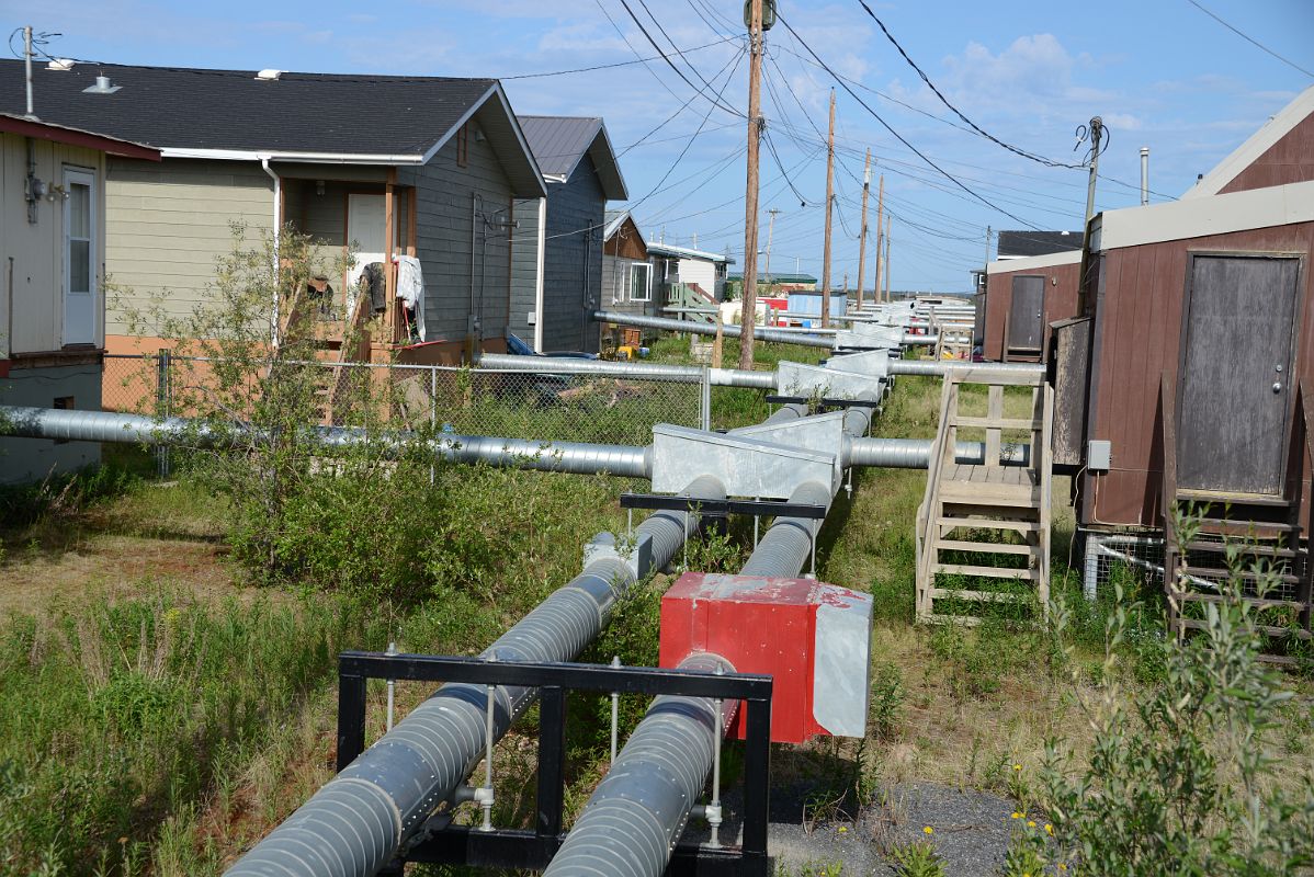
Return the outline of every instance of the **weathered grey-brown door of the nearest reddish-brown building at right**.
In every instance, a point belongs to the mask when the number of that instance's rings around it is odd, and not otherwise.
[[[1188,256],[1177,486],[1279,495],[1286,461],[1300,260]]]

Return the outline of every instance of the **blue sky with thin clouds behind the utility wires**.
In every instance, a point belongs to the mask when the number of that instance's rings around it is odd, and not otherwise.
[[[968,289],[987,228],[1079,230],[1088,172],[1054,165],[1083,164],[1092,116],[1108,131],[1097,210],[1139,203],[1141,147],[1151,202],[1180,196],[1314,84],[1314,0],[1198,3],[867,0],[869,14],[859,0],[778,0],[762,89],[771,273],[821,276],[832,85],[836,289],[857,282],[869,148],[869,227],[883,175],[897,290]],[[0,0],[5,33],[28,24],[60,34],[53,55],[112,63],[501,77],[518,113],[603,117],[631,196],[608,206],[632,209],[645,236],[742,265],[740,0]],[[872,240],[869,288],[874,257]]]

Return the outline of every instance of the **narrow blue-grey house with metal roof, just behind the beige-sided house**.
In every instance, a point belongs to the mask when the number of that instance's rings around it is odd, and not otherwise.
[[[520,116],[547,197],[515,202],[511,320],[535,351],[598,351],[603,214],[627,196],[600,118]]]

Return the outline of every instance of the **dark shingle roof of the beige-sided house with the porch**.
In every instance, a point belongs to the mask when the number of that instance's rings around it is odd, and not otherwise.
[[[97,75],[113,93],[88,93]],[[495,79],[125,64],[33,71],[42,121],[158,147],[164,158],[423,164],[476,118],[523,197],[541,175]],[[22,113],[24,63],[0,60],[0,112]]]

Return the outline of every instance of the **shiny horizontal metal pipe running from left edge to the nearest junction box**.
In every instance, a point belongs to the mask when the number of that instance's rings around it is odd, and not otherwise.
[[[405,435],[371,435],[365,429],[346,427],[305,429],[307,440],[323,448],[350,448],[373,442],[385,453],[399,453],[407,446]],[[113,411],[62,411],[18,406],[0,406],[0,435],[193,448],[230,448],[265,442],[259,429],[243,423],[217,428],[205,420],[187,417],[158,419]],[[610,473],[624,478],[652,475],[649,449],[631,445],[444,435],[430,441],[428,446],[435,457],[457,463],[486,463],[585,475]]]

